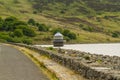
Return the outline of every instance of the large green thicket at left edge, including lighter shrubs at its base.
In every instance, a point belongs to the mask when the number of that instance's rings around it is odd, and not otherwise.
[[[32,40],[29,38],[36,36],[35,31],[26,22],[15,17],[7,17],[4,20],[0,18],[0,31],[1,41],[4,42],[31,44]]]

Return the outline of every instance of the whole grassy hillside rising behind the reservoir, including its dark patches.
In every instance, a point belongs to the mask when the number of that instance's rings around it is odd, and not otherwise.
[[[0,0],[0,16],[25,22],[32,18],[49,27],[48,31],[35,28],[33,43],[50,43],[56,28],[76,34],[76,39],[65,37],[69,43],[119,42],[119,6],[120,0]]]

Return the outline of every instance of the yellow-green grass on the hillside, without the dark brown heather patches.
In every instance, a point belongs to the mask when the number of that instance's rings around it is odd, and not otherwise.
[[[32,7],[32,2],[29,2],[28,0],[18,0],[18,3],[14,2],[15,0],[0,0],[0,16],[2,18],[6,18],[8,16],[15,16],[18,19],[21,19],[23,21],[26,21],[30,18],[35,19],[35,21],[39,23],[44,23],[48,26],[51,26],[52,28],[63,28],[63,29],[69,29],[72,32],[76,33],[77,39],[71,40],[68,43],[98,43],[98,42],[119,42],[120,38],[113,38],[111,35],[106,35],[106,32],[108,31],[120,31],[120,20],[116,19],[104,19],[104,16],[117,16],[117,18],[120,18],[120,12],[103,12],[100,15],[96,13],[92,8],[88,7],[84,2],[78,4],[77,2],[74,2],[70,5],[70,7],[66,7],[63,3],[55,3],[55,5],[49,4],[48,7],[51,8],[51,10],[44,10],[43,13],[37,13],[33,14],[33,11],[35,9]],[[84,14],[84,10],[81,9],[81,11],[77,11],[77,7],[84,7],[85,11],[90,12]],[[64,14],[61,14],[60,11],[67,8],[66,12]],[[88,16],[91,16],[93,14],[93,17],[89,18]],[[45,16],[50,16],[45,17]],[[84,31],[81,28],[79,28],[79,24],[88,25],[86,23],[83,23],[81,21],[79,22],[70,22],[70,21],[59,21],[58,19],[65,19],[64,17],[75,17],[78,19],[83,19],[87,22],[90,22],[91,24],[95,24],[98,27],[104,28],[104,32],[88,32]],[[97,20],[97,18],[100,18],[100,21]],[[45,37],[51,37],[53,38],[53,35],[50,32],[37,32],[37,36],[33,38],[35,44],[39,43],[47,43],[50,44],[52,41],[46,41],[43,40]],[[0,34],[2,34],[0,32]],[[111,34],[111,33],[110,33]],[[2,41],[2,39],[0,39]]]

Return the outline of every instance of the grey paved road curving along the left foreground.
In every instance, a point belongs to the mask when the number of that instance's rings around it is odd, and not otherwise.
[[[48,78],[20,51],[0,45],[0,80],[48,80]]]

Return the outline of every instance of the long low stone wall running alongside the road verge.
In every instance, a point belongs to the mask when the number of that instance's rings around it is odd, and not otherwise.
[[[111,75],[109,73],[104,73],[102,71],[97,71],[96,69],[93,69],[89,67],[87,64],[84,64],[81,61],[77,61],[76,59],[70,56],[63,56],[62,54],[56,54],[56,53],[47,51],[43,48],[37,48],[34,46],[25,45],[25,44],[14,44],[14,45],[36,50],[41,55],[48,56],[52,60],[74,70],[76,73],[82,75],[83,77],[89,80],[120,80],[120,78],[117,76]]]

